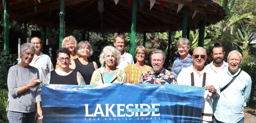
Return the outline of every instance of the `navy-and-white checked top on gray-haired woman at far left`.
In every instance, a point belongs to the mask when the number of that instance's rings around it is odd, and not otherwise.
[[[37,68],[22,68],[18,65],[14,65],[9,69],[7,79],[9,93],[6,111],[28,113],[37,110],[36,102],[41,101],[40,85],[17,95],[18,88],[28,85],[33,78],[39,79]]]

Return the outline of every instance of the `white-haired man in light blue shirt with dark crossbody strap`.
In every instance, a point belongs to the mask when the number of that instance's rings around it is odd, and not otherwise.
[[[220,90],[227,85],[241,69],[242,55],[234,50],[228,54],[228,69],[217,73]],[[252,87],[250,76],[241,71],[237,78],[213,101],[213,123],[244,123],[244,106],[249,100]]]

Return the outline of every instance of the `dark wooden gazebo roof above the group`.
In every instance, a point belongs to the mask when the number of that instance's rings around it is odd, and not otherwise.
[[[52,28],[60,27],[60,0],[16,0],[9,2],[9,18],[20,22],[33,22]],[[150,0],[145,0],[140,8],[137,0],[136,31],[164,31],[182,28],[184,7],[177,13],[178,4],[188,5],[188,25],[195,27],[201,15],[206,17],[206,25],[219,22],[225,16],[225,10],[212,0],[156,0],[150,10]],[[170,3],[175,3],[170,13]],[[163,3],[163,2],[162,2]],[[36,8],[36,9],[35,9]],[[197,13],[192,19],[194,11]],[[104,0],[104,12],[98,12],[98,0],[65,0],[65,29],[94,32],[130,32],[131,6],[128,0]],[[3,14],[1,5],[0,13]],[[190,13],[190,15],[189,15]],[[103,24],[103,30],[102,30]]]

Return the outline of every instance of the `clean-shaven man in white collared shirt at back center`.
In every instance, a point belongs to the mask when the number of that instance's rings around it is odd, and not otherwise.
[[[134,64],[132,55],[130,53],[127,53],[124,48],[125,48],[125,37],[122,35],[117,35],[114,40],[114,45],[117,50],[121,52],[121,57],[120,57],[120,64],[117,66],[118,69],[124,70],[126,66],[129,64]]]

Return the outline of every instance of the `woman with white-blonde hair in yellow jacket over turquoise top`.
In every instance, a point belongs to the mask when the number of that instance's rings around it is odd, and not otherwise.
[[[120,64],[121,53],[116,48],[107,46],[100,54],[101,68],[92,74],[91,84],[126,82],[125,71],[117,66]]]

